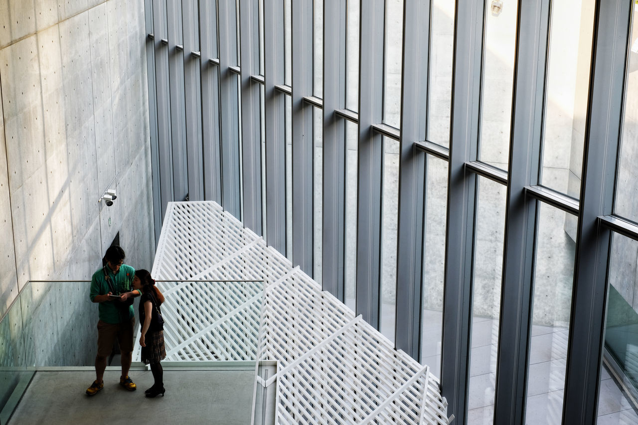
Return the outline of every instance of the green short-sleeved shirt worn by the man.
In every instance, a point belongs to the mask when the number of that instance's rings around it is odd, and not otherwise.
[[[105,295],[110,291],[104,276],[104,271],[107,271],[110,277],[111,285],[115,289],[115,295],[129,292],[133,289],[133,277],[135,276],[135,269],[133,269],[133,267],[122,264],[117,274],[113,274],[113,271],[107,265],[103,269],[98,269],[98,271],[93,273],[93,278],[91,278],[91,292],[89,294],[91,301],[94,300],[96,295]],[[120,318],[119,309],[115,306],[116,302],[118,301],[100,302],[98,308],[100,320],[111,324],[119,323],[120,320],[126,320],[124,315]],[[133,306],[129,306],[128,319],[130,320],[130,318],[134,316]]]

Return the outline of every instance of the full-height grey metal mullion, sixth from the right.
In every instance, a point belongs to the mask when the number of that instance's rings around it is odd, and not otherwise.
[[[323,0],[323,289],[345,300],[346,2]]]

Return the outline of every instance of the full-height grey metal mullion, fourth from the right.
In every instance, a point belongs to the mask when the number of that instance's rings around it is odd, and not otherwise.
[[[426,137],[429,4],[406,0],[399,139],[396,348],[420,361],[426,155],[413,140]]]

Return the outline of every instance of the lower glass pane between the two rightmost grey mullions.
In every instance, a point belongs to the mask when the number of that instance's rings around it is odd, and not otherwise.
[[[576,220],[547,204],[538,207],[526,423],[560,424],[572,306]]]

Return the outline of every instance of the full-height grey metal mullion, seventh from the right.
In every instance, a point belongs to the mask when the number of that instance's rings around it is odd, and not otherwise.
[[[313,276],[313,0],[292,2],[292,264]]]

